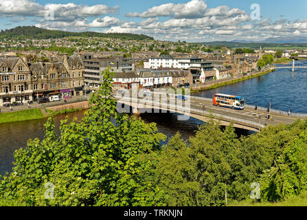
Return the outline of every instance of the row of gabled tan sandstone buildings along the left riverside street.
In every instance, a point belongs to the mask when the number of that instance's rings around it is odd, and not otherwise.
[[[22,58],[0,58],[0,106],[38,98],[82,96],[84,66],[78,56],[63,61],[25,63]]]

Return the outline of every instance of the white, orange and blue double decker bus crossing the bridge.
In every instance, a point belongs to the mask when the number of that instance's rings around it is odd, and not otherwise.
[[[244,98],[241,96],[230,96],[225,94],[214,94],[213,104],[231,109],[244,109]]]

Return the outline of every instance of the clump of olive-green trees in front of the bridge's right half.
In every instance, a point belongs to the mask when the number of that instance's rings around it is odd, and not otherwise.
[[[232,126],[201,126],[183,142],[177,134],[157,163],[159,188],[168,206],[223,206],[250,196],[251,184],[274,166],[286,146],[307,128],[307,120],[291,126],[269,126],[249,137],[237,137]],[[190,144],[189,144],[190,143]],[[304,155],[304,154],[302,154]],[[262,188],[262,184],[260,184]]]

